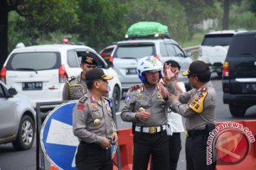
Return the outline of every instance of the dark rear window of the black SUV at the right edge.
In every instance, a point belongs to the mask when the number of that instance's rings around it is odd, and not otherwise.
[[[242,43],[241,43],[242,42]],[[228,57],[256,57],[256,38],[252,35],[236,36],[228,50]]]

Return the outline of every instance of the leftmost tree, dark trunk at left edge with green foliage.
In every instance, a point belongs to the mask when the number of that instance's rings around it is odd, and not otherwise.
[[[70,6],[72,4],[72,6]],[[22,20],[18,26],[36,33],[47,33],[56,29],[68,30],[78,23],[77,0],[1,0],[0,1],[0,67],[8,55],[8,14],[16,11]],[[30,35],[36,35],[32,32]]]

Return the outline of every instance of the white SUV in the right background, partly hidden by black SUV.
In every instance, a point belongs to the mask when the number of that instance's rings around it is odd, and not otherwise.
[[[198,60],[202,60],[209,65],[211,72],[216,72],[218,77],[222,76],[222,67],[225,57],[228,53],[233,36],[236,33],[245,32],[246,30],[217,30],[210,31],[204,38],[199,47]]]

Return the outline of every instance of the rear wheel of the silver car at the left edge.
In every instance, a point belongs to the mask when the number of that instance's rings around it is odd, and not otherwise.
[[[35,123],[28,115],[21,118],[18,127],[18,135],[16,140],[12,143],[16,150],[27,150],[33,145],[35,139]]]

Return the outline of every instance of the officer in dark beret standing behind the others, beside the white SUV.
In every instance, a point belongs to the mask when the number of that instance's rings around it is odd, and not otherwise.
[[[67,79],[63,88],[63,101],[78,100],[87,93],[85,74],[88,70],[96,68],[97,63],[97,56],[92,52],[82,54],[80,63],[82,72],[75,77],[73,76]]]

